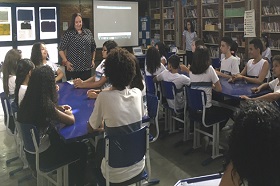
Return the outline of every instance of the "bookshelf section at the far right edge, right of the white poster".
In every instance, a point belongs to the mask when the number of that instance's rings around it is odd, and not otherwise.
[[[280,54],[280,1],[260,0],[260,33],[269,39],[272,56]]]

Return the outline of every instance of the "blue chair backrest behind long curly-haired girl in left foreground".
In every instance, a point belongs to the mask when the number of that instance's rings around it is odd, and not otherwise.
[[[24,145],[24,150],[35,154],[36,153],[36,148],[38,148],[38,144],[39,144],[39,132],[36,128],[36,126],[31,125],[31,124],[27,124],[27,123],[20,123],[18,121],[15,121],[17,124],[16,126],[18,127],[19,132],[21,133],[22,136],[22,141],[23,141],[23,145]],[[32,139],[32,132],[34,131],[35,134],[35,139],[37,141],[36,144],[34,144],[33,139]],[[37,147],[36,147],[37,146]]]

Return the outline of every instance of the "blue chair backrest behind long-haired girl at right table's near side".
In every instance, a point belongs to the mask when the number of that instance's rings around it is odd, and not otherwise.
[[[206,94],[203,90],[192,89],[186,86],[188,107],[192,111],[203,111],[206,105]]]

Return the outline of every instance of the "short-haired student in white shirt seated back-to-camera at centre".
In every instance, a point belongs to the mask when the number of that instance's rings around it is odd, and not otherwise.
[[[168,70],[163,71],[159,75],[154,77],[154,82],[158,81],[168,81],[173,82],[176,86],[176,89],[182,89],[184,85],[190,85],[190,78],[179,74],[179,64],[180,57],[177,55],[172,55],[168,58]],[[174,109],[174,103],[171,100],[167,99],[167,103],[169,107]],[[176,110],[182,109],[185,106],[185,96],[183,95],[183,91],[177,92],[175,96],[175,104]]]

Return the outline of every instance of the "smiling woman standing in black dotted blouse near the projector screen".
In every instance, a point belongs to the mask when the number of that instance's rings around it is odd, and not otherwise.
[[[95,49],[91,31],[83,28],[82,15],[74,13],[58,47],[67,80],[86,80],[91,77],[91,69],[95,65]]]

